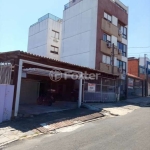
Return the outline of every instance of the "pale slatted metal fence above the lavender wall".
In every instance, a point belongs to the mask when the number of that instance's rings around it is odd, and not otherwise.
[[[12,65],[9,62],[0,62],[0,84],[10,84]]]

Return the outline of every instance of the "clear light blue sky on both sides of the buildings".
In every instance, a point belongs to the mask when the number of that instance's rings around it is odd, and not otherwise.
[[[150,0],[121,1],[129,6],[129,57],[147,54],[150,58]],[[47,13],[62,18],[64,5],[68,2],[0,0],[0,52],[27,51],[29,26]]]

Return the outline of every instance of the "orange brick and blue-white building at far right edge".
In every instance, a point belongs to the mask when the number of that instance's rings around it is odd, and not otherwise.
[[[150,59],[149,58],[128,58],[128,73],[145,80],[146,95],[150,95]]]

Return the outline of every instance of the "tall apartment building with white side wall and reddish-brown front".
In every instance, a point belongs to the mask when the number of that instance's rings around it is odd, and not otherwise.
[[[122,2],[73,0],[65,5],[61,60],[119,74],[122,97],[126,94],[127,47],[128,7]]]

